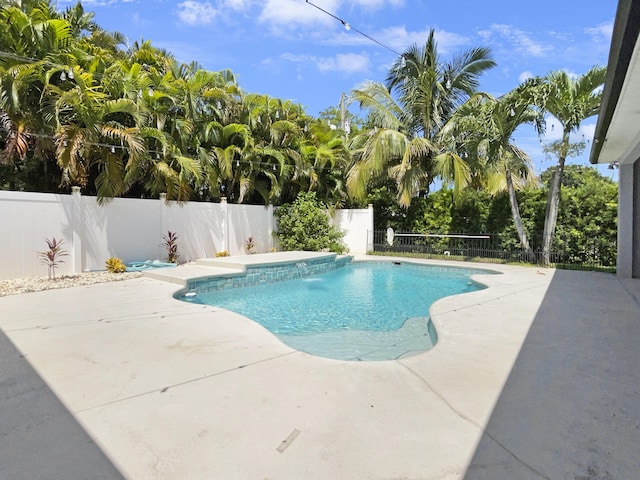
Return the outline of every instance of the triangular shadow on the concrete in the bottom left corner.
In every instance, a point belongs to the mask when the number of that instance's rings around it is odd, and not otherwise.
[[[1,330],[0,478],[124,479]]]

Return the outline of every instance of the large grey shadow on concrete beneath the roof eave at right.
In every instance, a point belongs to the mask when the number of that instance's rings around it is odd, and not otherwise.
[[[555,272],[464,480],[640,478],[640,280]]]

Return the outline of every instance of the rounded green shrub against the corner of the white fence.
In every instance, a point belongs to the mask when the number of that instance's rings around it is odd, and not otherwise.
[[[316,199],[314,192],[300,193],[293,203],[275,212],[278,231],[274,235],[282,250],[329,250],[344,253],[344,232],[329,223],[327,207]]]

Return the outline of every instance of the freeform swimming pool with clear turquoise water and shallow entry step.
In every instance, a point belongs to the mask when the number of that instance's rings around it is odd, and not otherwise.
[[[300,268],[300,267],[298,267]],[[354,262],[333,271],[194,296],[191,303],[244,315],[287,345],[340,360],[390,360],[437,341],[429,307],[439,298],[484,288],[478,269],[407,262]]]

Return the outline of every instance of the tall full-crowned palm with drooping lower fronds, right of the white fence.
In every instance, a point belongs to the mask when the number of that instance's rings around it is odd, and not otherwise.
[[[383,173],[395,181],[398,203],[404,207],[411,198],[428,191],[436,176],[454,183],[456,197],[469,180],[456,139],[440,132],[475,92],[479,76],[495,62],[489,49],[475,48],[443,63],[434,33],[430,31],[424,47],[414,45],[402,54],[386,86],[369,82],[352,92],[367,111],[371,127],[363,133],[366,141],[356,139],[361,148],[348,186],[357,197],[363,196],[371,178]]]

